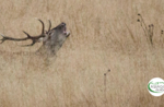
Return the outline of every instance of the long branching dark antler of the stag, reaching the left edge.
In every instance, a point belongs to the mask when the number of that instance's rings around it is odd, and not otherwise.
[[[32,39],[32,44],[30,45],[24,45],[24,46],[33,46],[35,43],[38,43],[39,41],[39,38],[40,37],[45,37],[45,25],[44,25],[44,22],[39,19],[37,19],[42,25],[43,25],[43,29],[42,29],[42,34],[38,35],[38,36],[31,36],[30,34],[27,34],[26,32],[23,31],[24,34],[27,35],[27,37],[24,37],[24,38],[13,38],[13,37],[8,37],[8,36],[4,36],[3,34],[1,34],[1,36],[3,37],[1,40],[0,44],[4,43],[5,40],[15,40],[15,41],[21,41],[21,40],[27,40],[27,39]],[[49,21],[50,22],[50,21]],[[51,25],[50,25],[51,26]],[[48,29],[49,31],[49,29]]]

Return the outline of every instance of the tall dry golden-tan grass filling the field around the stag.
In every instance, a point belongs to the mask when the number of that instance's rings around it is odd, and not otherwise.
[[[0,46],[0,107],[163,107],[147,85],[164,79],[163,0],[0,0],[0,32],[40,33],[42,19],[71,32],[48,63],[34,52],[42,44]],[[140,23],[154,24],[153,47]],[[104,73],[106,75],[104,85]]]

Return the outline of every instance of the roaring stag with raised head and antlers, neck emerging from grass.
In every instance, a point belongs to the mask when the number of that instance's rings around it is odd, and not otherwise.
[[[58,26],[51,28],[51,22],[49,21],[49,28],[48,28],[48,31],[45,31],[44,22],[39,19],[37,19],[37,20],[43,25],[40,35],[31,36],[28,33],[23,31],[23,33],[26,35],[26,37],[13,38],[13,37],[9,37],[9,36],[1,34],[2,39],[0,39],[1,40],[0,44],[4,43],[5,40],[23,41],[23,40],[31,39],[32,44],[23,46],[23,47],[25,47],[25,46],[28,47],[28,46],[35,45],[36,43],[43,41],[43,45],[36,51],[36,54],[48,55],[49,57],[55,56],[57,54],[57,51],[60,49],[60,47],[62,46],[62,44],[65,43],[65,40],[70,35],[70,33],[67,32],[66,23],[62,22]]]

